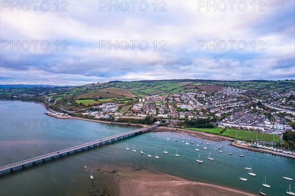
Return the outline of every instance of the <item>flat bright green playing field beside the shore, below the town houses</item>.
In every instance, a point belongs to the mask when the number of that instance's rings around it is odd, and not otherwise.
[[[218,127],[215,127],[212,129],[209,129],[209,128],[185,128],[185,129],[202,131],[202,132],[207,132],[212,134],[219,134],[220,132],[220,128]],[[256,140],[256,135],[257,135],[257,140],[264,140],[264,141],[273,140],[273,134],[257,133],[257,132],[246,131],[246,130],[227,129],[224,133],[220,135],[229,136],[232,138],[236,138],[237,136],[238,139],[253,139],[253,140]],[[280,141],[277,134],[274,135],[274,141],[277,141],[277,142]]]

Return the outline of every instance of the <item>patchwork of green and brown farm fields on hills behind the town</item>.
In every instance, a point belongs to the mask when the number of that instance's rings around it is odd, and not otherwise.
[[[188,91],[219,91],[224,87],[247,89],[252,96],[268,95],[272,91],[295,90],[295,81],[213,81],[213,80],[150,80],[150,81],[111,81],[60,88],[1,88],[0,98],[10,99],[23,93],[36,94],[38,99],[68,108],[68,103],[87,105],[99,102],[130,102],[136,97],[174,94]],[[38,100],[37,99],[37,100]],[[82,107],[74,105],[74,107]]]

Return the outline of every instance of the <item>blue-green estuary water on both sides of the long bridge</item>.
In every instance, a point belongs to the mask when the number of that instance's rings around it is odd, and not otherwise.
[[[44,112],[47,110],[38,103],[0,101],[0,166],[137,129],[78,119],[56,119]],[[203,149],[206,142],[209,143],[207,150]],[[195,150],[197,144],[200,151]],[[130,150],[126,150],[127,145]],[[223,153],[214,150],[220,145]],[[163,152],[165,147],[168,154]],[[132,151],[133,148],[136,152]],[[140,153],[141,149],[144,154]],[[175,156],[176,150],[179,157]],[[229,150],[233,155],[228,154]],[[185,133],[148,132],[12,173],[2,172],[0,195],[89,195],[91,168],[127,166],[159,170],[254,194],[258,194],[266,177],[271,186],[263,189],[267,196],[287,196],[290,183],[294,191],[295,180],[286,180],[282,176],[295,179],[295,159],[240,150],[227,145],[226,141],[217,143]],[[152,157],[147,156],[148,151]],[[207,160],[209,152],[213,161]],[[203,164],[196,162],[199,153]],[[240,157],[240,153],[244,157]],[[156,154],[159,159],[154,158]],[[252,167],[256,176],[248,175],[245,167]],[[104,180],[100,179],[96,169],[93,169],[93,175],[95,180]],[[248,181],[241,181],[239,177]]]

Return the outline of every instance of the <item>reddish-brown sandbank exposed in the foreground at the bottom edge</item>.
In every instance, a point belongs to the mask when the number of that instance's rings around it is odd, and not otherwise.
[[[99,178],[109,176],[106,192],[119,196],[255,196],[229,187],[186,180],[160,171],[145,168],[99,170]],[[113,175],[110,175],[113,174]]]

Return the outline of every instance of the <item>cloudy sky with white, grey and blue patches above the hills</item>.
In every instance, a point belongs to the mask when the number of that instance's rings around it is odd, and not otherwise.
[[[294,0],[13,3],[2,81],[295,79]]]

